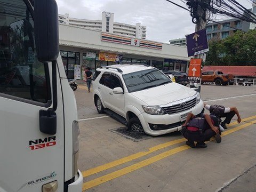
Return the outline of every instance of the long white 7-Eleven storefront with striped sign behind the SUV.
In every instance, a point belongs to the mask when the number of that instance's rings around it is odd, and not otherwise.
[[[83,79],[85,67],[138,63],[187,71],[186,47],[60,25],[60,53],[68,78]]]

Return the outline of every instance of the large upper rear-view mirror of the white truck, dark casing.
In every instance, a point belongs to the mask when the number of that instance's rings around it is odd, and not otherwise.
[[[55,0],[35,0],[34,29],[38,60],[56,60],[59,55],[59,17]]]

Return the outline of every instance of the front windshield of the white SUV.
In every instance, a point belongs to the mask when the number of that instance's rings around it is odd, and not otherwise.
[[[129,92],[145,90],[150,87],[171,83],[172,81],[157,69],[148,69],[123,75]]]

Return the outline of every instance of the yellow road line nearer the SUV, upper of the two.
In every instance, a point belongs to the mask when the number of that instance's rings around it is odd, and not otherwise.
[[[256,118],[256,115],[244,118],[244,119],[242,119],[242,121],[248,121],[248,120],[253,119],[253,118]],[[230,123],[228,126],[230,127],[230,126],[233,126],[233,125],[236,125],[236,124],[238,124],[238,123],[237,122],[233,122],[233,123]],[[172,146],[172,145],[176,145],[176,144],[184,142],[184,141],[186,141],[186,139],[182,138],[182,139],[177,139],[177,140],[169,141],[169,142],[166,142],[166,143],[162,143],[160,145],[157,145],[157,146],[149,148],[147,151],[142,151],[142,152],[139,152],[139,153],[136,153],[136,154],[132,154],[132,155],[123,157],[121,159],[117,159],[117,160],[115,160],[113,162],[109,162],[109,163],[106,163],[104,165],[100,165],[100,166],[94,167],[92,169],[83,171],[82,172],[83,177],[88,177],[88,176],[90,176],[92,174],[99,173],[101,171],[110,169],[111,167],[115,167],[117,165],[121,165],[123,163],[129,162],[129,161],[132,161],[132,160],[137,159],[139,157],[142,157],[142,156],[148,155],[150,153],[153,153],[153,152],[155,152],[157,150],[160,150],[160,149],[163,149],[165,147]]]

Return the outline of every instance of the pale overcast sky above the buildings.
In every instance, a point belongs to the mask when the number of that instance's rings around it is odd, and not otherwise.
[[[114,13],[114,22],[147,26],[146,38],[169,43],[170,39],[182,38],[194,33],[195,25],[189,12],[165,0],[56,0],[59,14],[69,13],[71,18],[101,20],[101,12]],[[182,6],[180,0],[173,0]],[[239,0],[247,9],[248,0]],[[221,17],[223,18],[223,17]]]

